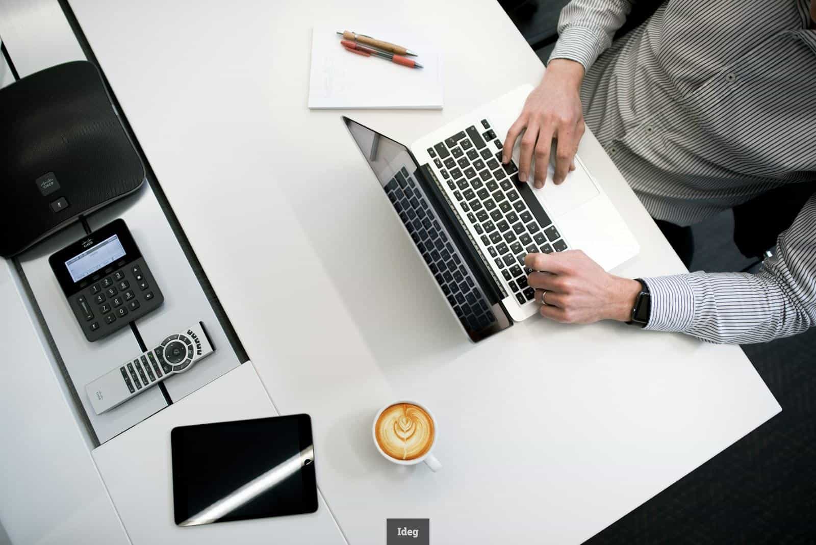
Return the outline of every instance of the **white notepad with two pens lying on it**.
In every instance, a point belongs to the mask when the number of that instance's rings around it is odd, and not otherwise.
[[[439,53],[410,32],[354,29],[407,47],[424,68],[410,69],[389,60],[346,51],[335,27],[317,27],[312,35],[312,73],[308,107],[441,109],[442,70]]]

